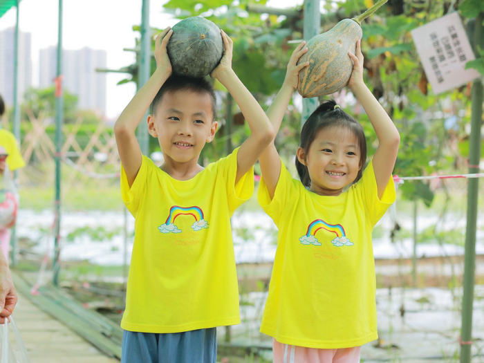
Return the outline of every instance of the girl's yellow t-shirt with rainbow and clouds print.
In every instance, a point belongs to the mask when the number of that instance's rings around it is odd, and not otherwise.
[[[279,228],[261,332],[310,348],[361,346],[378,338],[371,231],[395,201],[393,179],[378,198],[373,163],[339,196],[320,196],[284,165],[272,201],[259,203]]]

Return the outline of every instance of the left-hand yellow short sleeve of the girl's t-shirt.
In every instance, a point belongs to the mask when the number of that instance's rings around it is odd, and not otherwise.
[[[261,205],[264,212],[266,212],[272,220],[277,223],[284,206],[290,201],[290,198],[296,198],[297,196],[297,180],[292,178],[290,172],[286,168],[286,165],[281,160],[281,173],[279,174],[279,180],[277,180],[274,196],[271,199],[266,182],[263,176],[259,183],[259,191],[257,192],[257,201]],[[300,184],[300,183],[299,183]]]

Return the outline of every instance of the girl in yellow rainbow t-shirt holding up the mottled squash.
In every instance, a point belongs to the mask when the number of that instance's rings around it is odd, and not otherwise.
[[[295,91],[301,44],[268,109],[274,129]],[[360,346],[377,339],[371,231],[395,200],[391,171],[400,136],[363,81],[360,41],[348,87],[362,104],[379,146],[366,162],[362,126],[334,101],[306,120],[296,151],[299,180],[274,143],[261,155],[259,203],[279,228],[261,332],[274,338],[274,362],[359,362]]]

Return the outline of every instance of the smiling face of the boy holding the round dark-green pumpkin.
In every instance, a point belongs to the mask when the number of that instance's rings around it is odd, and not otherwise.
[[[158,138],[165,162],[195,160],[215,136],[212,98],[209,93],[191,90],[169,91],[148,116],[148,130]]]

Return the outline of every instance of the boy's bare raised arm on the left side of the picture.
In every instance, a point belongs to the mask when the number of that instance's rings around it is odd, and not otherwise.
[[[124,108],[118,120],[114,124],[114,135],[118,153],[128,183],[131,186],[141,167],[142,153],[136,139],[136,127],[145,115],[149,105],[171,75],[171,63],[167,54],[167,44],[173,30],[166,28],[156,37],[155,59],[156,71],[153,72],[148,82],[134,95],[133,99]]]

